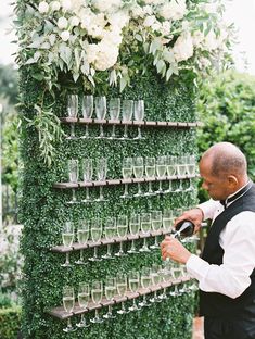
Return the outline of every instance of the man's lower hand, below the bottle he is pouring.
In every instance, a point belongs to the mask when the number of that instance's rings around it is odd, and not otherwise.
[[[166,236],[162,241],[161,249],[163,260],[170,258],[181,264],[186,264],[191,255],[179,240],[170,236]]]

